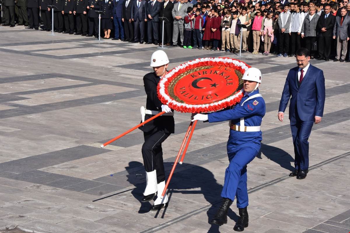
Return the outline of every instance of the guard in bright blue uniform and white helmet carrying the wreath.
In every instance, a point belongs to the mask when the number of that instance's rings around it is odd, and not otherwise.
[[[231,120],[230,136],[227,142],[227,153],[230,164],[225,171],[225,183],[221,192],[223,198],[211,224],[227,223],[227,212],[232,201],[237,198],[239,220],[233,230],[243,231],[248,226],[248,191],[247,164],[260,150],[262,140],[260,125],[264,117],[265,101],[259,94],[261,72],[257,68],[248,68],[243,74],[244,96],[232,109],[213,112],[208,115],[196,114],[193,120],[221,122]]]

